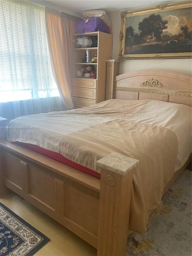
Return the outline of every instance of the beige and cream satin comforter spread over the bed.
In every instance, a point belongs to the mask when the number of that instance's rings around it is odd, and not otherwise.
[[[9,127],[16,129],[8,130],[7,139],[59,152],[95,171],[96,161],[111,152],[139,159],[133,178],[129,229],[143,233],[176,165],[179,169],[190,154],[188,144],[188,156],[182,153],[183,138],[179,137],[185,115],[184,127],[191,134],[190,107],[114,99],[82,109],[19,117],[10,122]],[[189,139],[187,136],[184,140]]]

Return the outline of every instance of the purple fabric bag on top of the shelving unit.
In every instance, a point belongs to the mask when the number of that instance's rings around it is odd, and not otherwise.
[[[87,32],[96,32],[101,31],[109,33],[108,26],[104,23],[103,20],[96,17],[90,17],[86,20],[82,20],[75,24],[76,34],[82,34]]]

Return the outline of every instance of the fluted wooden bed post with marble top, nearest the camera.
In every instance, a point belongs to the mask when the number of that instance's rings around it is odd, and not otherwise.
[[[139,160],[111,153],[96,163],[101,171],[97,256],[124,256],[133,172]]]

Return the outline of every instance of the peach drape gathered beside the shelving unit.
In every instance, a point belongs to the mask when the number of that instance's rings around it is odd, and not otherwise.
[[[72,45],[70,41],[75,33],[75,23],[82,19],[52,8],[45,8],[45,20],[53,77],[65,107],[70,110],[74,108],[71,98]]]

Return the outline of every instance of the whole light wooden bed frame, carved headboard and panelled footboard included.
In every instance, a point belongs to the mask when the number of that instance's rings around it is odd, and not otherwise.
[[[106,99],[157,99],[191,106],[191,77],[168,71],[116,76],[107,61]],[[0,120],[0,126],[4,120]],[[97,161],[101,180],[6,140],[1,131],[0,197],[16,192],[97,248],[97,255],[125,255],[133,172],[138,160],[111,153]],[[190,162],[178,170],[164,192]],[[128,203],[125,204],[125,199]]]

